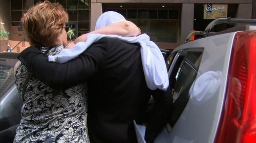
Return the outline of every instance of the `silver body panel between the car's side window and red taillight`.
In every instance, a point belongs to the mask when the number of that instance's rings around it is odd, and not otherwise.
[[[216,85],[216,92],[214,92],[214,94],[200,98],[190,96],[187,105],[172,130],[168,130],[165,127],[158,135],[155,142],[214,142],[224,101],[229,58],[235,34],[236,32],[233,32],[198,39],[183,44],[173,51],[180,53],[203,48],[203,56],[196,80],[200,75],[208,71],[218,71],[221,73],[221,77],[219,78],[220,84]],[[173,61],[173,64],[174,63],[175,59]],[[171,71],[172,68],[170,68],[168,73]],[[191,88],[193,88],[193,86],[191,86]]]

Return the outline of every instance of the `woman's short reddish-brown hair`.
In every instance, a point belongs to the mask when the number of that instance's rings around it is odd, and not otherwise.
[[[31,46],[58,45],[58,36],[68,22],[68,14],[58,3],[42,2],[31,7],[22,17],[25,35]]]

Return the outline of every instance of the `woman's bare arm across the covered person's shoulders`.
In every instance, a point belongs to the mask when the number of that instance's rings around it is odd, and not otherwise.
[[[76,43],[80,41],[86,41],[86,37],[88,34],[105,34],[105,35],[119,35],[119,36],[138,36],[141,31],[140,28],[137,27],[131,21],[119,21],[109,26],[102,27],[98,30],[92,31],[87,34],[83,34],[76,38],[75,41],[72,41],[68,44],[68,48],[72,48]]]

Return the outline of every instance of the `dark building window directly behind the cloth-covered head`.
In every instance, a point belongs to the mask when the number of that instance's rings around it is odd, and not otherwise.
[[[179,10],[177,9],[107,9],[134,22],[154,42],[178,43]]]

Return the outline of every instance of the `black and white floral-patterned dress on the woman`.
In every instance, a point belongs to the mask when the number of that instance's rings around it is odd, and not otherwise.
[[[63,48],[66,47],[41,47],[41,51],[48,56],[58,54]],[[20,93],[28,76],[22,62],[16,71],[16,85]],[[90,142],[86,91],[85,83],[66,91],[54,90],[32,76],[26,86],[22,120],[14,142]]]

